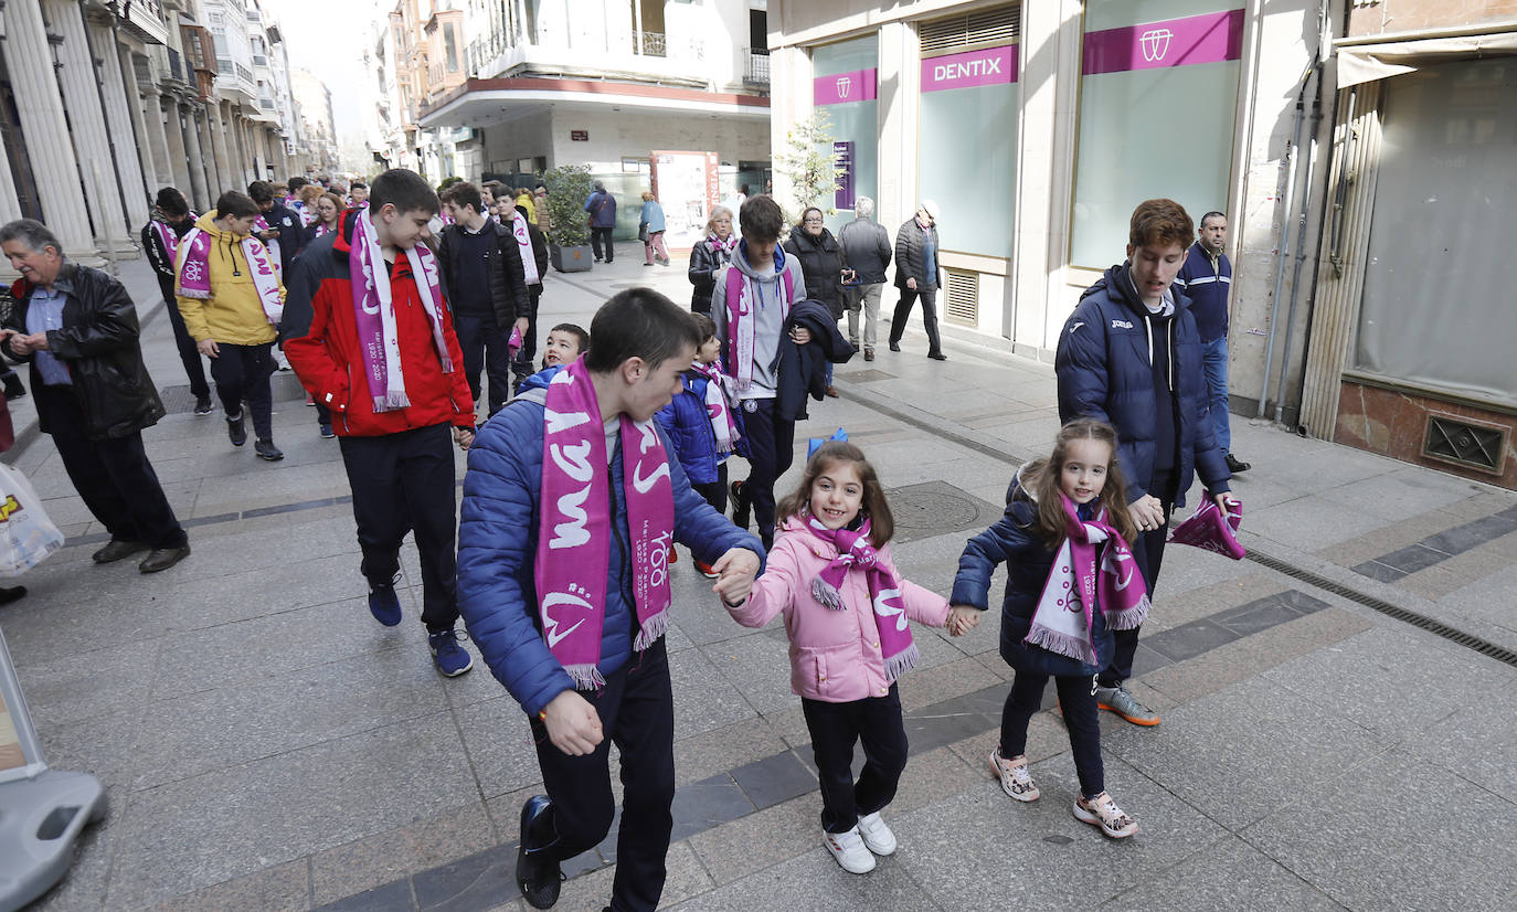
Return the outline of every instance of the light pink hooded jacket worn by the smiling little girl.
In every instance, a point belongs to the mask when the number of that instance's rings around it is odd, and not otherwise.
[[[884,545],[878,554],[880,563],[894,574],[890,546]],[[845,605],[840,612],[812,595],[812,580],[836,557],[836,546],[812,534],[799,517],[789,516],[748,601],[727,610],[734,621],[754,628],[784,615],[784,631],[790,637],[790,689],[796,695],[827,703],[884,697],[890,680],[880,651],[868,575],[857,568],[848,571],[839,587]],[[897,580],[907,618],[928,627],[948,624],[944,596],[901,580],[900,574]]]

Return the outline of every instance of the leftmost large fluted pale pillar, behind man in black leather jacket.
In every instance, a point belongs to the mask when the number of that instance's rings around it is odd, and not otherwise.
[[[79,161],[68,144],[64,99],[53,77],[53,56],[42,11],[36,3],[6,3],[5,26],[6,64],[15,86],[21,129],[26,132],[27,149],[38,150],[32,156],[32,173],[42,203],[42,219],[70,256],[96,263],[90,215],[79,193]]]

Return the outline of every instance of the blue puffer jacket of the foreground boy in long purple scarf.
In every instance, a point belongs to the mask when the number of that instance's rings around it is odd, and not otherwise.
[[[513,399],[485,422],[469,448],[461,522],[458,524],[458,610],[496,680],[528,715],[537,715],[573,680],[543,640],[532,568],[543,481],[543,375],[522,384]],[[661,434],[660,434],[661,436]],[[664,446],[669,439],[664,437]],[[622,451],[610,466],[613,534],[607,543],[605,622],[601,631],[602,675],[611,675],[633,653],[633,592],[627,574],[627,498]],[[730,548],[763,555],[758,539],[734,527],[690,490],[678,461],[669,464],[674,487],[674,537],[695,557],[715,563]],[[677,605],[678,607],[678,605]]]

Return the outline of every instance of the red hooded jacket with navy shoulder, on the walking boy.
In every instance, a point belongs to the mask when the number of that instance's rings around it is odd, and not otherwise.
[[[446,307],[438,308],[448,357],[454,363],[452,373],[443,373],[432,343],[431,319],[411,276],[411,261],[404,255],[396,256],[390,270],[390,293],[400,343],[400,372],[411,405],[394,411],[373,410],[347,273],[353,220],[361,217],[367,217],[367,209],[343,212],[340,231],[316,238],[296,263],[282,323],[290,366],[300,385],[332,410],[332,429],[340,437],[378,437],[443,423],[472,428],[473,398],[452,316]]]

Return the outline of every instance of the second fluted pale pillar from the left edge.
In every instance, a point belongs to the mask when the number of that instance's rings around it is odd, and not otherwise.
[[[132,235],[121,209],[121,188],[111,167],[111,138],[100,109],[100,86],[90,56],[85,21],[76,3],[50,2],[46,9],[49,23],[64,36],[58,46],[58,59],[62,62],[59,77],[96,237],[109,238],[115,250],[124,252],[132,247]]]

